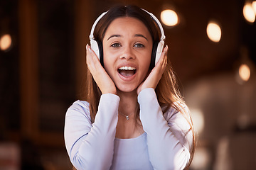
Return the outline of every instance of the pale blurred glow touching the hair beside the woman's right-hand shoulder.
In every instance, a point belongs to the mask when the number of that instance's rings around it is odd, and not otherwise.
[[[191,115],[193,119],[194,128],[196,132],[200,134],[204,128],[203,112],[200,109],[191,109]]]

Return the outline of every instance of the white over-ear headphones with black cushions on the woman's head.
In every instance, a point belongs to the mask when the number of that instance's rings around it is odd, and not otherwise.
[[[142,9],[143,11],[146,11],[144,9]],[[107,11],[108,12],[108,11]],[[102,66],[104,66],[103,64],[103,47],[102,47],[102,43],[97,42],[94,38],[94,30],[95,27],[97,25],[97,23],[100,21],[100,19],[105,16],[105,14],[107,12],[102,13],[95,21],[95,23],[93,23],[92,25],[92,30],[90,32],[90,45],[92,50],[95,52],[95,54],[97,55],[97,57],[99,57],[100,63],[102,64]],[[149,13],[148,11],[146,11],[146,13]],[[150,68],[153,69],[154,66],[156,65],[156,63],[159,61],[159,58],[161,57],[161,52],[163,51],[164,48],[164,40],[166,39],[166,36],[164,35],[164,29],[161,26],[160,21],[156,18],[156,16],[154,16],[152,13],[149,13],[150,17],[157,23],[157,25],[159,26],[159,29],[161,31],[161,38],[160,41],[157,43],[154,43],[153,45],[153,49],[152,49],[152,55],[151,55],[151,64],[150,64]]]

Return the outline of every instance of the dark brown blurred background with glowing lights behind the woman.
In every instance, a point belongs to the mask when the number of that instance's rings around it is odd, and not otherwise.
[[[191,169],[256,167],[256,1],[1,0],[0,169],[72,169],[65,112],[82,98],[92,23],[115,4],[161,18],[197,131]]]

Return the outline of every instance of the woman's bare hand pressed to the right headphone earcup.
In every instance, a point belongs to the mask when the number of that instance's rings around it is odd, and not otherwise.
[[[142,84],[139,85],[137,89],[137,94],[146,89],[146,88],[154,88],[156,89],[157,84],[159,83],[162,74],[164,73],[164,70],[166,68],[167,64],[167,52],[168,52],[168,46],[164,48],[161,57],[159,59],[159,62],[156,63],[156,66],[151,70],[149,73],[149,76],[146,77],[146,80],[142,82]]]

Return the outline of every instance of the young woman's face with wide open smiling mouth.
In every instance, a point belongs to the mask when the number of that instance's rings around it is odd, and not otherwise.
[[[119,91],[137,89],[149,72],[153,40],[136,18],[117,18],[102,40],[104,66]]]

